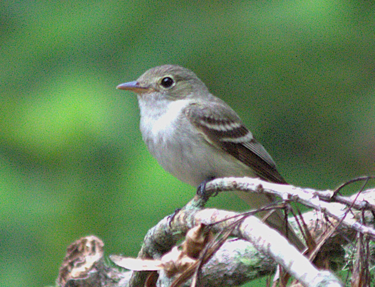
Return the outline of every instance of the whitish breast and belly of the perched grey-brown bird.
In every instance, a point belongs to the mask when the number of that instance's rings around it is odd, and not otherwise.
[[[163,102],[164,113],[142,111],[140,129],[150,153],[179,180],[197,187],[212,177],[252,176],[246,167],[228,153],[211,145],[183,115],[188,100]],[[160,111],[160,109],[159,109]]]

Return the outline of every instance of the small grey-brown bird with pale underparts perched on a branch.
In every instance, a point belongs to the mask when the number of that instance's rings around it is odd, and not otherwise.
[[[193,71],[160,65],[116,88],[136,93],[142,139],[164,170],[184,183],[199,188],[214,178],[252,177],[288,184],[237,113]],[[236,193],[250,208],[275,201],[268,194]],[[266,223],[297,249],[305,248],[280,210]]]

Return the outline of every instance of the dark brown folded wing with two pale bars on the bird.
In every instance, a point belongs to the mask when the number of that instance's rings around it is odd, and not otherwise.
[[[254,139],[239,116],[224,102],[191,103],[184,113],[210,144],[251,167],[260,178],[286,183],[266,149]]]

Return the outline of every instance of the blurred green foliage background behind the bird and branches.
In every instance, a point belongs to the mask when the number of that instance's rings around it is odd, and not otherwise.
[[[294,185],[375,172],[374,1],[0,3],[2,287],[54,284],[84,235],[135,256],[192,197],[115,89],[155,65],[195,71]],[[228,193],[210,205],[246,208]]]

